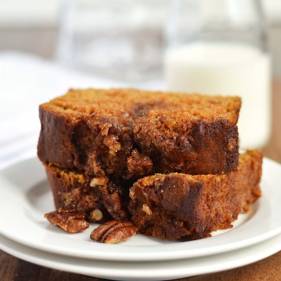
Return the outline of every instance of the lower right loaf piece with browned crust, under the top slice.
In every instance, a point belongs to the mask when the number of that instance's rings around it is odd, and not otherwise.
[[[132,222],[149,236],[200,239],[231,227],[241,210],[261,196],[262,153],[247,151],[238,170],[224,175],[156,174],[130,190]]]

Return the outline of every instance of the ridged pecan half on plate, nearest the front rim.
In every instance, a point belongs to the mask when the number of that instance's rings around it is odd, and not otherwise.
[[[92,230],[90,238],[106,244],[126,241],[136,234],[137,228],[131,222],[108,221]]]

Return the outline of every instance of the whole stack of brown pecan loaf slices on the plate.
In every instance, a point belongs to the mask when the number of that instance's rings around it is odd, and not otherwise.
[[[38,156],[56,207],[168,240],[231,227],[261,196],[262,153],[239,155],[240,107],[134,89],[69,90],[40,105]]]

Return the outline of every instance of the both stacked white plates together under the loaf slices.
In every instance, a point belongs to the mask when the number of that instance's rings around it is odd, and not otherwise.
[[[36,158],[0,172],[0,248],[54,269],[116,280],[166,280],[222,271],[281,250],[281,165],[264,159],[263,196],[233,228],[197,241],[136,235],[116,245],[90,240],[89,229],[64,232],[44,219],[55,209],[44,169]]]

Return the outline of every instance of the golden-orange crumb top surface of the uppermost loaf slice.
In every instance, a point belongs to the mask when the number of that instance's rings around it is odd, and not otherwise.
[[[209,120],[219,117],[236,124],[241,99],[136,89],[71,89],[46,105],[74,115],[95,113],[108,116],[125,126],[139,116],[157,118],[167,112],[178,113],[182,118],[186,115]]]

